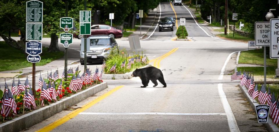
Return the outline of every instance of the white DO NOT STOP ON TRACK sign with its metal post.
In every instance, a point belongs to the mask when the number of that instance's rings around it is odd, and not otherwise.
[[[269,22],[255,22],[255,44],[264,47],[264,86],[267,84],[267,54],[266,47],[270,45]]]

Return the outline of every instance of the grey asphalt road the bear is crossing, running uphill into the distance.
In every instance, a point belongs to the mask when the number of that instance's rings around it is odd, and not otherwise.
[[[237,51],[245,50],[246,44],[208,36],[208,30],[199,27],[184,6],[174,6],[174,10],[177,19],[186,18],[188,34],[195,41],[172,41],[176,28],[174,32],[158,32],[157,28],[149,39],[141,41],[150,60],[176,49],[151,63],[162,70],[166,88],[160,83],[153,88],[152,82],[140,88],[140,78],[105,80],[109,87],[96,96],[123,87],[61,125],[51,123],[70,111],[62,111],[27,131],[39,130],[48,124],[55,127],[52,131],[266,131],[255,121],[253,113],[246,113],[251,108],[244,105],[243,95],[235,87],[238,81],[230,82],[230,76],[226,75],[236,66]],[[170,3],[158,6],[155,22],[160,13],[161,18],[175,17]],[[128,41],[118,44],[128,48]],[[233,52],[236,53],[231,54]]]

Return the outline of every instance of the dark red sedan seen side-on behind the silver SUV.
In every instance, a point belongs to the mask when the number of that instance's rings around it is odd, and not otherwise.
[[[92,25],[91,26],[91,35],[100,35],[100,34],[107,34],[113,35],[114,38],[121,38],[123,37],[122,30],[113,28],[108,25]],[[73,34],[75,38],[81,39],[83,35],[76,35]],[[89,37],[90,35],[87,35]]]

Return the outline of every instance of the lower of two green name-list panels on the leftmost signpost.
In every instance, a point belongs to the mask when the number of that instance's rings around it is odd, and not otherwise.
[[[43,23],[26,23],[26,40],[42,41]]]

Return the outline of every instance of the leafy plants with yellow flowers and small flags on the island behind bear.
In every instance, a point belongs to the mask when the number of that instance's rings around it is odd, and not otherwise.
[[[110,56],[104,61],[103,67],[105,74],[124,74],[136,68],[148,65],[149,59],[143,52],[130,52],[124,48],[118,51],[119,47],[111,50]],[[104,66],[105,65],[105,66]]]

